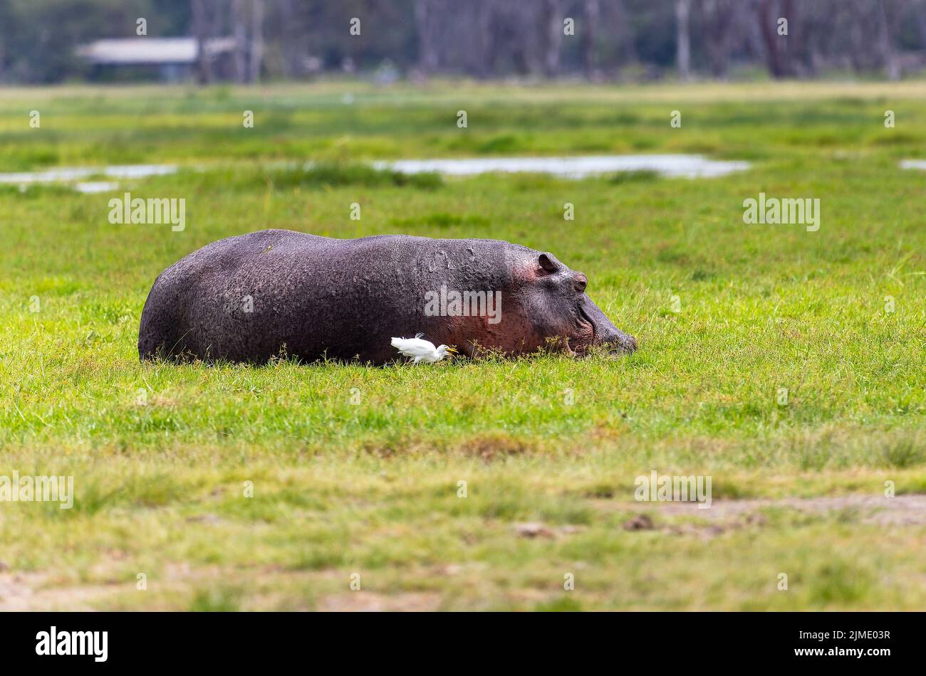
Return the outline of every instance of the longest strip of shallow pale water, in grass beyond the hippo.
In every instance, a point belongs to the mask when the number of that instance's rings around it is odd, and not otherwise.
[[[655,171],[667,177],[711,178],[749,168],[748,162],[711,160],[702,155],[586,155],[580,157],[491,157],[442,160],[374,162],[404,174],[436,172],[474,176],[491,172],[551,174],[561,178],[585,178],[619,171]]]

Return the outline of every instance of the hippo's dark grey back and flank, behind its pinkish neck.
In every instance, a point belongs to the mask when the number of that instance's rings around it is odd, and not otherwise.
[[[206,245],[156,279],[142,312],[140,357],[262,362],[388,361],[389,337],[427,330],[422,292],[507,283],[511,255],[495,240],[379,235],[334,240],[260,230]],[[469,286],[467,286],[469,285]]]

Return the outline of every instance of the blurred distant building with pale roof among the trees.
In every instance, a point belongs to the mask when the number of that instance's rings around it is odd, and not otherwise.
[[[221,77],[231,77],[233,37],[209,38],[204,41],[206,59]],[[160,80],[176,82],[194,76],[199,58],[195,38],[112,38],[96,40],[77,48],[77,55],[99,71],[106,69],[152,68]]]

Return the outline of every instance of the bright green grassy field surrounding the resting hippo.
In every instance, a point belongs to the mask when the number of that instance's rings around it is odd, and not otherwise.
[[[924,149],[926,82],[5,90],[0,171],[184,168],[115,193],[0,186],[0,475],[76,493],[0,503],[0,608],[926,608],[926,175],[898,168]],[[752,168],[358,164],[621,153]],[[123,190],[184,198],[186,228],[111,225]],[[759,192],[819,198],[820,230],[745,225]],[[156,275],[264,227],[554,252],[640,350],[139,363]],[[634,501],[652,470],[710,475],[715,507]]]

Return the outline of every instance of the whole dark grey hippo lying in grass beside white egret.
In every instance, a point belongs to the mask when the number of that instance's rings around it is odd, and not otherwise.
[[[636,350],[587,284],[552,253],[502,240],[260,230],[212,242],[157,276],[138,353],[382,365],[400,358],[391,338],[418,333],[469,357]]]

